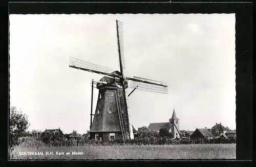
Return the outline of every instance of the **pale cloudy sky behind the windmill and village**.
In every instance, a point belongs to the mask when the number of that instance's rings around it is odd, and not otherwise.
[[[89,130],[91,81],[103,75],[69,68],[69,57],[119,70],[116,19],[124,75],[168,86],[129,96],[136,129],[168,122],[173,109],[180,130],[236,129],[234,14],[11,14],[10,104],[28,115],[29,130]],[[97,97],[94,89],[93,112]]]

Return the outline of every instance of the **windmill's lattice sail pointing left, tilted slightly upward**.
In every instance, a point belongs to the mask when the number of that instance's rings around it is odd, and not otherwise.
[[[69,67],[103,75],[109,75],[114,71],[109,67],[96,65],[91,62],[83,61],[74,57],[69,58]]]

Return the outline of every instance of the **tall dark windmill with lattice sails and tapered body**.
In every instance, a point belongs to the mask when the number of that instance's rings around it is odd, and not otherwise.
[[[168,93],[167,84],[164,82],[136,76],[133,78],[125,77],[123,75],[123,69],[125,69],[123,23],[119,20],[116,20],[116,30],[120,72],[114,71],[109,67],[70,57],[69,67],[104,75],[99,81],[92,80],[92,98],[94,84],[99,89],[99,94],[95,114],[92,114],[91,106],[91,139],[133,138],[133,127],[129,122],[127,97],[135,89],[155,93]],[[133,88],[133,91],[126,96],[125,89],[128,88],[129,80],[131,81],[130,87]],[[93,122],[92,115],[94,115]]]

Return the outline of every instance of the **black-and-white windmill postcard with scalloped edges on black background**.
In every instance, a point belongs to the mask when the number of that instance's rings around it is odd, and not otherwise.
[[[236,159],[235,24],[10,14],[10,159]]]

